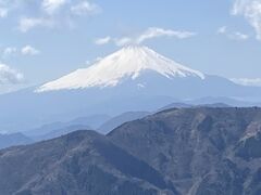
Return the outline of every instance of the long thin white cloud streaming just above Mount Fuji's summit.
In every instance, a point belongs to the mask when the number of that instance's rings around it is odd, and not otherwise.
[[[147,40],[156,39],[160,37],[172,37],[176,39],[186,39],[196,36],[196,32],[192,31],[184,31],[184,30],[172,30],[172,29],[164,29],[159,27],[150,27],[147,30],[129,37],[121,37],[121,38],[111,38],[108,36],[107,38],[101,41],[101,44],[114,42],[119,47],[123,47],[126,44],[141,44]],[[97,42],[96,42],[97,43]]]

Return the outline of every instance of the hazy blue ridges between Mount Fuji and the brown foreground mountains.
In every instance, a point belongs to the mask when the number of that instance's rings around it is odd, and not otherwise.
[[[209,100],[209,99],[208,99]],[[214,99],[215,100],[215,99]],[[225,101],[225,99],[222,99]],[[198,102],[198,101],[196,101]],[[226,102],[232,103],[232,100],[226,100]],[[146,116],[152,115],[153,113],[162,112],[165,109],[173,108],[192,108],[192,107],[213,107],[213,108],[224,108],[224,107],[233,107],[231,105],[224,103],[214,103],[210,104],[210,102],[203,102],[204,104],[192,104],[192,102],[187,103],[172,103],[169,104],[156,112],[127,112],[115,117],[109,117],[105,115],[96,115],[90,117],[80,117],[73,119],[67,122],[53,122],[44,125],[40,128],[32,129],[25,132],[11,133],[11,134],[2,134],[2,145],[0,144],[0,148],[14,146],[14,145],[24,145],[38,141],[49,140],[53,138],[59,138],[61,135],[67,134],[70,132],[74,132],[77,130],[96,130],[99,133],[107,134],[113,129],[122,126],[125,122],[129,122],[133,120],[141,119]],[[209,103],[209,104],[208,104]],[[235,102],[236,104],[237,102]],[[243,103],[241,103],[243,104]],[[89,126],[90,125],[90,126]]]

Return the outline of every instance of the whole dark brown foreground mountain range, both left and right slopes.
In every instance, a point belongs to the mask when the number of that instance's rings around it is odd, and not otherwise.
[[[173,108],[0,151],[0,194],[261,193],[261,108]]]

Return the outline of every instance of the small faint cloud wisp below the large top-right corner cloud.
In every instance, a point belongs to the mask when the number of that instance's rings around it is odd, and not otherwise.
[[[217,29],[219,35],[223,35],[232,40],[244,41],[249,39],[249,35],[240,31],[231,31],[227,26],[222,26]]]

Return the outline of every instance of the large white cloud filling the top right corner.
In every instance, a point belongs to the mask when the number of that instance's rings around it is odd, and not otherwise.
[[[232,14],[244,16],[261,40],[261,0],[235,0]]]

